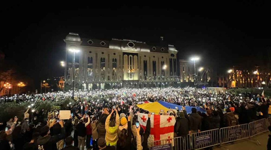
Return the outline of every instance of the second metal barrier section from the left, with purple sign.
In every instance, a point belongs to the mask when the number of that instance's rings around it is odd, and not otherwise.
[[[199,133],[188,134],[185,141],[187,144],[187,149],[195,150],[220,145],[220,130],[213,129]]]

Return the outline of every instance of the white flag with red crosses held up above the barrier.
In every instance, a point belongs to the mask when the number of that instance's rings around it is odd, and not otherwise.
[[[148,114],[138,113],[138,121],[140,127],[146,129]],[[174,125],[175,125],[174,116],[166,115],[151,115],[151,132],[148,138],[148,142],[163,140],[160,144],[173,143],[171,140],[174,136]],[[155,144],[157,145],[157,144]]]

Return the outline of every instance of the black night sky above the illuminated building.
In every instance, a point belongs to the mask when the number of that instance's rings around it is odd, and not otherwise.
[[[2,5],[0,50],[37,87],[40,79],[63,75],[59,62],[65,58],[63,39],[69,32],[81,38],[127,38],[147,44],[163,36],[179,50],[180,59],[198,55],[200,65],[218,71],[270,61],[269,3],[136,4]]]

